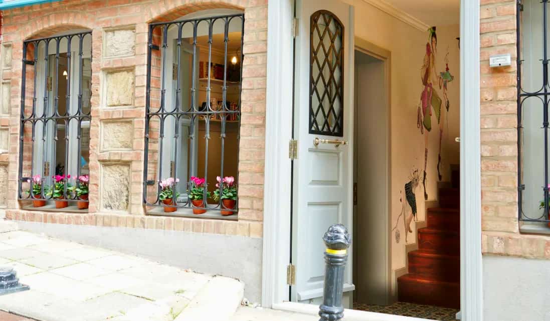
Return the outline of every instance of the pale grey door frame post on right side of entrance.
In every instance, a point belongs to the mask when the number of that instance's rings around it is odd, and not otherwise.
[[[460,307],[482,321],[480,0],[460,5]]]

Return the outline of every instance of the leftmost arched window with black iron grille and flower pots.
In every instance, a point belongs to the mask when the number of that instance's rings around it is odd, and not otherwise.
[[[80,30],[23,43],[20,200],[87,202],[78,177],[89,174],[91,48]]]

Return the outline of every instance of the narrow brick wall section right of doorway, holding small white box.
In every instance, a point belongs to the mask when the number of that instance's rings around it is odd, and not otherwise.
[[[550,258],[550,237],[519,233],[516,2],[481,0],[481,214],[486,254]],[[489,68],[510,53],[512,65]]]

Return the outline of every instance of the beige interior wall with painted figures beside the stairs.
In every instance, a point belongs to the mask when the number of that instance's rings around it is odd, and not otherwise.
[[[423,90],[421,67],[426,53],[426,43],[429,41],[427,30],[420,30],[405,22],[382,12],[370,4],[360,0],[345,0],[355,6],[355,36],[364,41],[391,52],[390,72],[390,213],[392,227],[397,222],[403,207],[404,185],[409,182],[412,168],[422,173],[425,155],[425,137],[417,127],[417,109]],[[459,136],[459,26],[437,26],[437,55],[435,71],[445,70],[444,57],[449,49],[449,69],[454,75],[454,81],[448,85],[450,109],[447,115],[444,111],[444,136],[442,140],[442,181],[449,181],[450,164],[458,164],[459,145],[454,138]],[[436,87],[443,97],[442,90]],[[443,106],[443,105],[442,105]],[[447,117],[448,116],[448,117]],[[447,119],[448,118],[448,122]],[[437,157],[439,134],[436,116],[432,115],[432,131],[428,135],[428,165],[426,192],[429,200],[437,200]],[[376,185],[376,182],[371,182]],[[422,176],[419,187],[415,190],[417,203],[417,218],[425,219],[425,200],[423,196]],[[392,227],[389,227],[390,229]],[[416,241],[415,223],[409,234],[408,243]],[[403,268],[406,263],[405,229],[402,218],[397,224],[399,241],[395,231],[390,233],[391,270],[392,273]],[[361,237],[361,235],[356,235]],[[358,272],[360,273],[360,272]]]

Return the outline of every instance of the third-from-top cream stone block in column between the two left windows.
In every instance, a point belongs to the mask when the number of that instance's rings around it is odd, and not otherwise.
[[[131,121],[102,121],[101,150],[131,149],[134,125]]]

